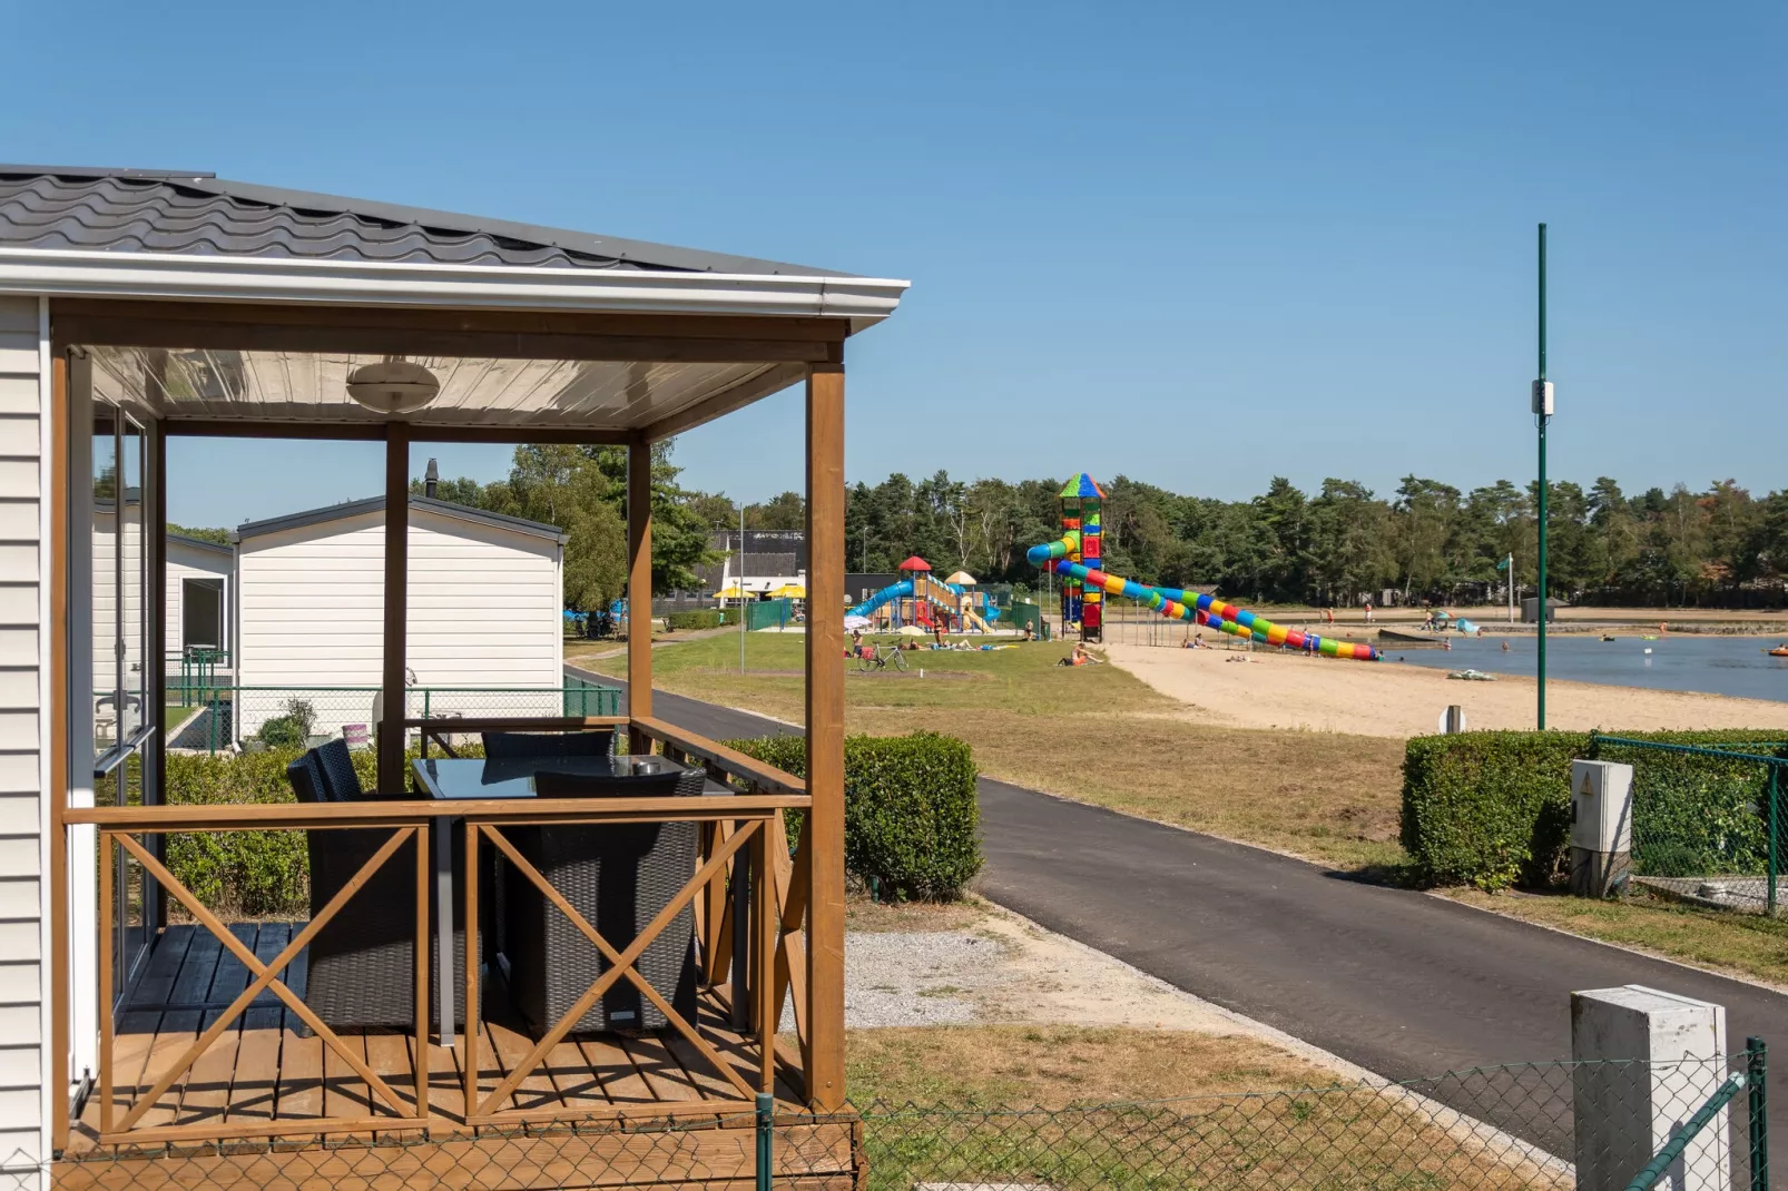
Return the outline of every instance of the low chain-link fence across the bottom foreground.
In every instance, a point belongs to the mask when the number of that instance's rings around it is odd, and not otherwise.
[[[1767,1119],[1754,1043],[1688,1062],[1518,1064],[1128,1103],[878,1100],[814,1116],[760,1098],[755,1114],[249,1139],[157,1148],[154,1161],[89,1150],[68,1155],[57,1186],[1618,1191],[1656,1173],[1656,1186],[1768,1191]]]

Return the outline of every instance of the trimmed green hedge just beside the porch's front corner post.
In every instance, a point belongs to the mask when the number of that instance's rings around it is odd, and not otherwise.
[[[803,737],[731,748],[806,776]],[[933,731],[844,742],[844,867],[881,896],[955,898],[982,871],[980,803],[969,746]],[[794,824],[790,824],[790,832]]]

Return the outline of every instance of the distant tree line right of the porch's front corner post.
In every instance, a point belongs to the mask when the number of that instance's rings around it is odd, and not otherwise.
[[[983,581],[1035,585],[1025,551],[1060,536],[1062,479],[894,474],[849,488],[846,558],[890,570],[921,554]],[[1405,476],[1389,497],[1354,479],[1316,494],[1275,477],[1248,501],[1182,495],[1118,476],[1105,485],[1105,569],[1164,587],[1216,585],[1237,601],[1468,603],[1538,581],[1538,485],[1463,492]],[[794,497],[794,494],[787,494]],[[783,497],[783,499],[787,499]],[[1548,486],[1548,596],[1572,603],[1781,606],[1788,588],[1788,492],[1752,497],[1731,479],[1625,495],[1607,476]]]

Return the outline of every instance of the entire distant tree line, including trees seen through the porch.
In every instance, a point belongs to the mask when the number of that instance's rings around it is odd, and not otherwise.
[[[697,590],[719,562],[713,535],[738,524],[722,494],[683,488],[672,443],[653,449],[653,590]],[[443,479],[438,495],[558,526],[567,535],[565,603],[604,608],[626,592],[622,447],[526,445],[508,479]],[[1025,551],[1060,536],[1066,477],[914,481],[899,472],[846,490],[849,570],[885,572],[910,554],[985,583],[1039,587]],[[422,492],[422,481],[413,481]],[[1236,601],[1357,604],[1495,601],[1513,556],[1518,590],[1538,570],[1538,486],[1498,479],[1463,492],[1405,476],[1387,497],[1354,479],[1316,494],[1275,477],[1248,501],[1182,495],[1118,476],[1105,485],[1105,569],[1164,587],[1214,585]],[[744,508],[747,529],[803,529],[806,503],[783,492]],[[186,533],[218,533],[188,529]],[[1788,490],[1752,497],[1731,479],[1625,495],[1607,476],[1548,488],[1547,587],[1572,603],[1783,606],[1788,594]]]

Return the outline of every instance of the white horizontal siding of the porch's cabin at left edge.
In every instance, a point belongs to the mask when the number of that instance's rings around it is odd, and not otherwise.
[[[45,1157],[39,361],[38,300],[0,299],[0,1168]]]

